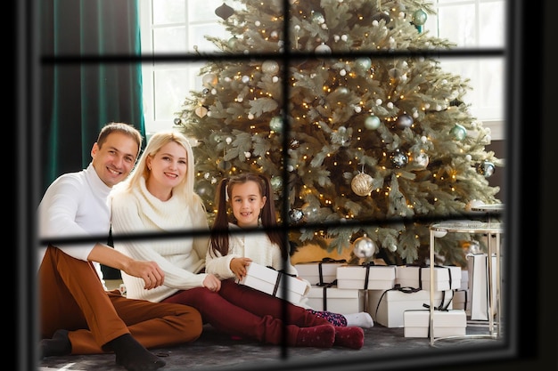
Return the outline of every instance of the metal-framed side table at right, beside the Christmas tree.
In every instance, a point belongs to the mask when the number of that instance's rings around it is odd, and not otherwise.
[[[500,297],[500,235],[504,233],[503,225],[499,222],[476,222],[476,221],[458,221],[458,222],[439,222],[431,224],[431,241],[430,241],[430,342],[434,344],[436,340],[441,338],[434,338],[434,244],[435,238],[443,238],[447,233],[464,232],[464,233],[483,233],[488,235],[488,335],[465,335],[467,337],[490,337],[496,338],[501,335],[501,297]],[[492,236],[496,237],[496,246],[492,244]],[[496,267],[493,267],[492,254],[496,254]],[[492,271],[496,268],[496,295],[493,295]],[[496,296],[496,303],[494,302]],[[496,304],[496,324],[494,323],[494,308]],[[462,337],[462,336],[458,336]]]

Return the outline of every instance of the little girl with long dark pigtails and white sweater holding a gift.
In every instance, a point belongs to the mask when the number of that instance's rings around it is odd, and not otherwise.
[[[241,280],[246,275],[250,262],[257,262],[298,276],[289,258],[288,244],[283,242],[283,232],[279,230],[275,220],[275,206],[270,192],[269,179],[256,173],[242,173],[219,182],[216,195],[217,214],[212,228],[214,233],[211,234],[206,256],[207,272],[221,279]],[[234,222],[229,222],[227,199]],[[266,233],[240,233],[260,226],[266,228]],[[310,283],[306,282],[309,288]],[[309,308],[308,311],[336,326],[373,327],[373,320],[367,312],[343,316]]]

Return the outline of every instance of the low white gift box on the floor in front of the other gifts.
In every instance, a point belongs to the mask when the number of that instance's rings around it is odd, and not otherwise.
[[[430,337],[430,311],[405,311],[403,313],[405,337]],[[467,316],[464,310],[434,311],[434,337],[464,336]]]

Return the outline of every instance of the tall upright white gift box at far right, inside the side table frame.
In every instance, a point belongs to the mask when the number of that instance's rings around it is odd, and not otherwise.
[[[469,292],[471,293],[471,319],[488,320],[488,254],[468,254]],[[492,255],[492,299],[496,314],[496,254]]]

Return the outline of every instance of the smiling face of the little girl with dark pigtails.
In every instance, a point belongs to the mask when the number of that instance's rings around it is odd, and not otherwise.
[[[255,181],[234,184],[230,202],[238,226],[241,228],[258,227],[259,213],[266,205],[266,199],[261,195],[258,183]]]

